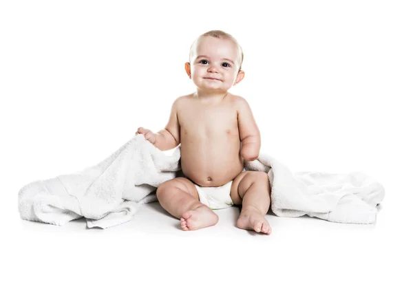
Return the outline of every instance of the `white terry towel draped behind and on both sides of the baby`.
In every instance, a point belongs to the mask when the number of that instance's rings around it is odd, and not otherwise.
[[[291,173],[260,153],[246,171],[264,171],[271,184],[271,210],[279,217],[308,215],[342,223],[375,223],[384,188],[363,173]],[[85,217],[89,228],[129,221],[136,205],[157,201],[162,182],[182,176],[180,147],[166,155],[135,135],[96,166],[32,182],[19,190],[21,219],[63,226]]]

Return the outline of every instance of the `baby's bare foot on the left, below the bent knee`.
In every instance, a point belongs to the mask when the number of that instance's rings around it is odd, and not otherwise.
[[[206,205],[184,212],[181,218],[181,227],[184,231],[198,230],[216,223],[218,223],[218,215]]]

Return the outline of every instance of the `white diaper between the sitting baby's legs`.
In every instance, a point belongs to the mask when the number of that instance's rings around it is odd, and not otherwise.
[[[194,185],[200,196],[200,202],[209,208],[224,209],[234,205],[230,196],[232,180],[223,186],[203,187],[198,186],[198,184]]]

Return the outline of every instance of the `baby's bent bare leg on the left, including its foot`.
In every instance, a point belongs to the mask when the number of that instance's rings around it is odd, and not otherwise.
[[[156,190],[160,206],[180,219],[182,230],[198,230],[218,223],[218,215],[199,201],[193,183],[176,177],[161,184]]]

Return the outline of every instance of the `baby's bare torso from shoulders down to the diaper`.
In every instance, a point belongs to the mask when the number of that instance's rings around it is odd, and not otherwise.
[[[244,168],[235,100],[232,94],[220,102],[193,95],[180,100],[181,167],[200,186],[222,186]]]

